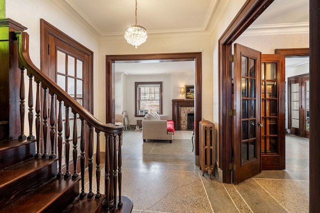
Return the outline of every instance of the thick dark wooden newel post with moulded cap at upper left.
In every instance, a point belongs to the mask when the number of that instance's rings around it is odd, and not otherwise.
[[[0,139],[17,138],[20,128],[20,69],[14,31],[26,27],[10,18],[0,19]]]

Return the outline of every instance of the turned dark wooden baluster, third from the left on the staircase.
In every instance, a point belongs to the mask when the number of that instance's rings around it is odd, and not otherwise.
[[[40,127],[41,127],[41,103],[40,103],[40,81],[36,81],[36,97],[35,97],[35,137],[36,137],[36,153],[34,158],[41,156],[40,152]]]

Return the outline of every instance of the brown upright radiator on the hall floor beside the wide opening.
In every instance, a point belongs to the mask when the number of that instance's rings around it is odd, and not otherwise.
[[[214,123],[208,120],[199,122],[199,164],[202,176],[208,172],[209,179],[214,175],[215,168],[215,145],[214,145]]]

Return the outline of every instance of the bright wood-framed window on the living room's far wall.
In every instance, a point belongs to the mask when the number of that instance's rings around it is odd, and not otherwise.
[[[162,82],[135,82],[135,116],[162,114]]]

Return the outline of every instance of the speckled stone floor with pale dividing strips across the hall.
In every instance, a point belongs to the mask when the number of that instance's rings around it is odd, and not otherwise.
[[[191,134],[143,143],[141,131],[124,131],[122,195],[132,199],[132,212],[308,212],[308,139],[286,135],[285,170],[234,185],[201,175]]]

